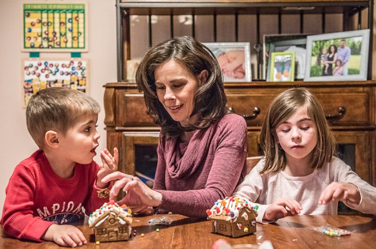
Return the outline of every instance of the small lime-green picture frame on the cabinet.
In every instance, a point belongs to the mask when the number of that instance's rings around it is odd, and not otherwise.
[[[294,81],[295,52],[272,52],[270,61],[271,81]]]

